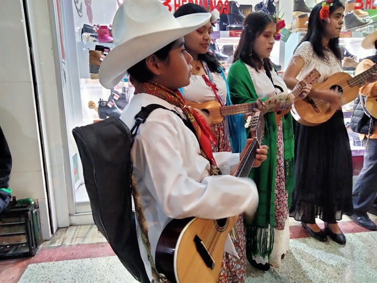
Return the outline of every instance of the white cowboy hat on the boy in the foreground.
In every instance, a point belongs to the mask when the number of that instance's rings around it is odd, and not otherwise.
[[[101,85],[113,88],[128,68],[205,25],[210,17],[210,13],[197,13],[174,18],[160,0],[127,0],[114,16],[115,47],[101,63]]]

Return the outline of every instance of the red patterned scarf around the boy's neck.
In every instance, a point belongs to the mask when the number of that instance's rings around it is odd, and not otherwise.
[[[185,105],[185,101],[181,93],[178,90],[173,92],[170,89],[152,81],[137,84],[135,87],[137,88],[137,92],[154,95],[182,109],[184,115],[187,117],[187,120],[189,120],[195,129],[203,157],[210,161],[211,175],[221,174],[220,169],[216,166],[216,161],[212,153],[211,141],[213,142],[214,138],[212,136],[211,128],[209,127],[207,121],[195,109]]]

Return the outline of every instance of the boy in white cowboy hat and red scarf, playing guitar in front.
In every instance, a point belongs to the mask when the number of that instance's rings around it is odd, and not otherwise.
[[[135,95],[121,115],[130,128],[142,106],[159,104],[171,110],[154,110],[140,125],[131,149],[153,257],[171,219],[220,219],[244,211],[252,216],[258,203],[253,181],[229,175],[245,151],[213,154],[208,125],[185,106],[177,91],[190,83],[192,69],[183,36],[203,26],[210,16],[198,13],[174,18],[159,0],[127,0],[113,21],[116,46],[100,68],[100,83],[106,88],[114,87],[127,71],[137,81]],[[257,149],[254,167],[266,154],[265,146]],[[137,227],[146,271],[150,279],[152,273],[156,279]],[[227,244],[234,253],[229,236]]]

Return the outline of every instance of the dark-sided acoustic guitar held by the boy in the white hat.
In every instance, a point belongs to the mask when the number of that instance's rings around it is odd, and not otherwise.
[[[252,117],[254,138],[232,175],[246,177],[255,161],[256,149],[264,130],[263,115]],[[245,125],[246,126],[246,125]],[[210,220],[173,219],[162,231],[155,260],[158,272],[174,283],[216,283],[221,271],[226,238],[237,216]]]

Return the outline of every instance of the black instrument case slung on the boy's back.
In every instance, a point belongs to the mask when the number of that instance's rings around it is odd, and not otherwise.
[[[142,107],[131,130],[114,116],[72,130],[93,220],[123,265],[140,282],[149,282],[149,278],[140,256],[132,211],[130,151],[139,125],[157,108],[166,109],[158,104]]]

